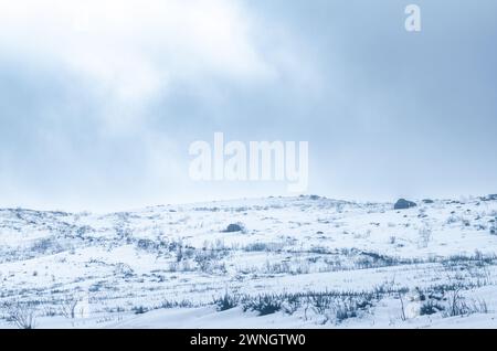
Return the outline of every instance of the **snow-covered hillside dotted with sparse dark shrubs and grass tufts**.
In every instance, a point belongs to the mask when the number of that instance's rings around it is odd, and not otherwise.
[[[497,196],[416,203],[0,210],[0,328],[497,328]]]

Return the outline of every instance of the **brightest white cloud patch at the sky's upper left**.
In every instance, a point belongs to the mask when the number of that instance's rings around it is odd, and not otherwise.
[[[131,126],[171,86],[203,77],[267,79],[253,23],[230,0],[3,1],[0,50],[57,66],[105,102],[108,123]]]

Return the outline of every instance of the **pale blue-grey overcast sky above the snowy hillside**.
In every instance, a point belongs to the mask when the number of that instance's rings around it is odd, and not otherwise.
[[[422,31],[404,29],[416,3]],[[0,0],[0,206],[285,195],[194,140],[309,141],[309,191],[497,192],[495,0]]]

